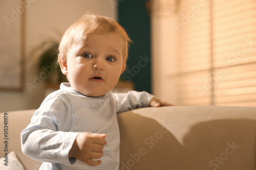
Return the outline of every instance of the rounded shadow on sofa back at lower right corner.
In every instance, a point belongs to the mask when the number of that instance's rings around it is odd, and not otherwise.
[[[184,169],[256,169],[255,130],[256,121],[250,119],[218,119],[191,127],[183,140],[189,160]]]

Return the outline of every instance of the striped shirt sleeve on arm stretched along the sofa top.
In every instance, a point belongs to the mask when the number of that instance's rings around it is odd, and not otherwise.
[[[113,93],[113,98],[116,103],[117,113],[128,110],[133,110],[142,107],[148,107],[154,95],[142,91],[129,91],[127,93]]]

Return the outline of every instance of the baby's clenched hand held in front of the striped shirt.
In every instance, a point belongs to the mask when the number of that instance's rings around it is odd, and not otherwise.
[[[76,158],[90,166],[97,166],[101,163],[99,159],[103,155],[103,147],[106,144],[105,134],[80,133],[77,135],[73,147],[69,152],[69,158]]]

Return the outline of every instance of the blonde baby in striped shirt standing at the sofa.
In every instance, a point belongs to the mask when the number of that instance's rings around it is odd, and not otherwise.
[[[111,93],[131,39],[109,17],[85,14],[63,35],[58,63],[69,83],[51,93],[23,130],[22,150],[40,169],[119,169],[116,114],[172,106],[143,91]]]

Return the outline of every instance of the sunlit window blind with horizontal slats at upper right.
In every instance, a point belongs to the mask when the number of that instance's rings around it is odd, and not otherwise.
[[[179,105],[256,106],[256,0],[183,0]]]

